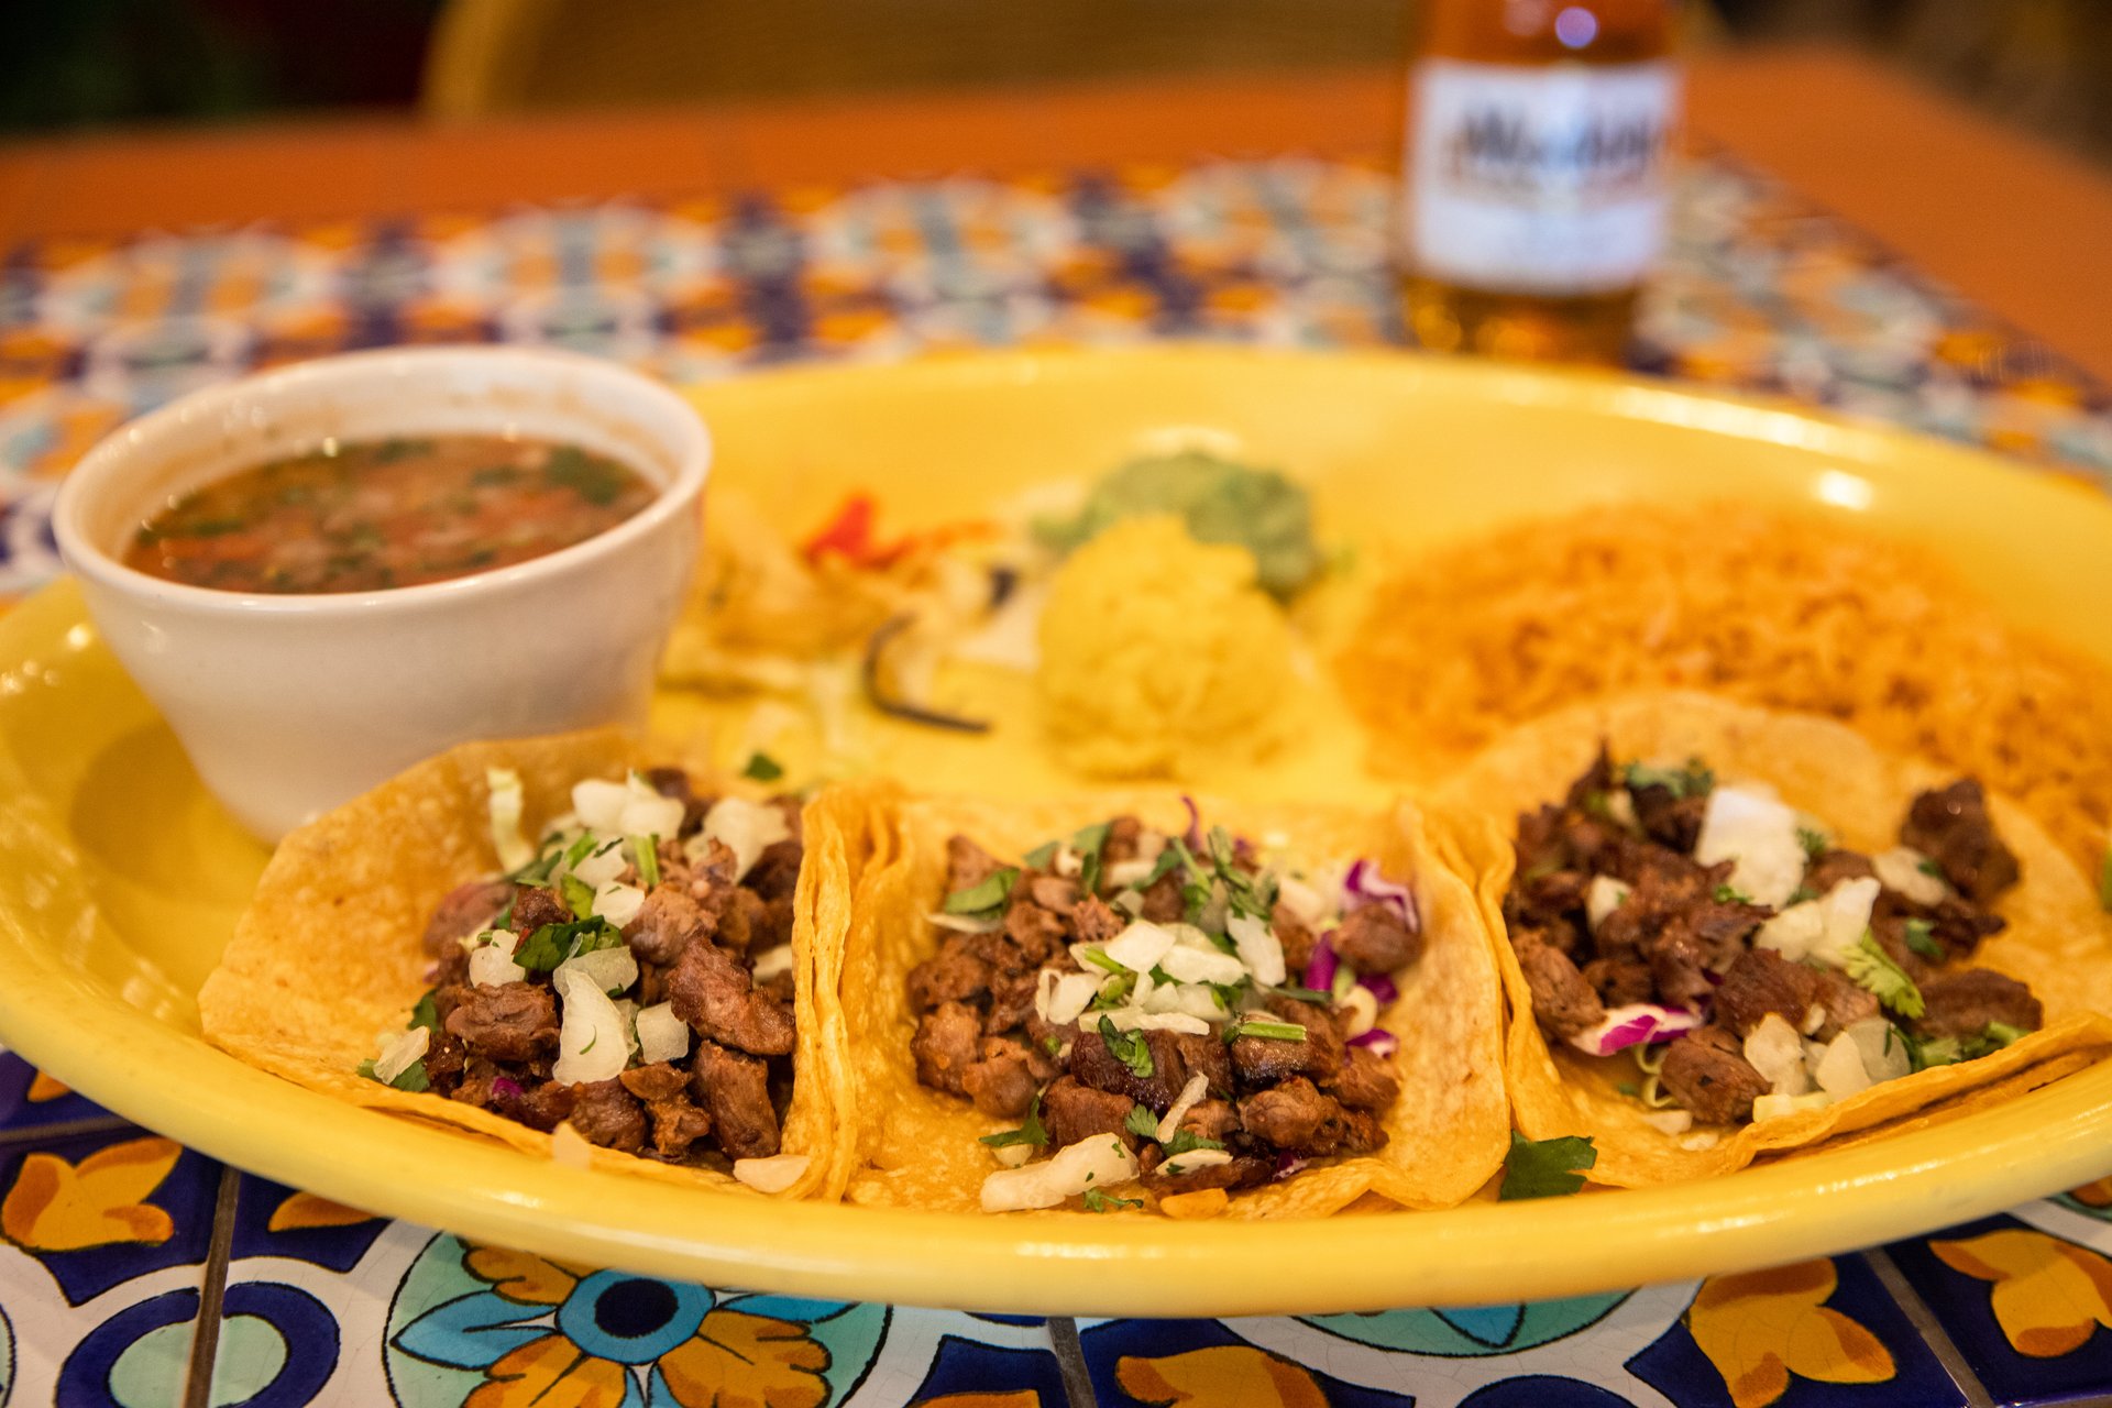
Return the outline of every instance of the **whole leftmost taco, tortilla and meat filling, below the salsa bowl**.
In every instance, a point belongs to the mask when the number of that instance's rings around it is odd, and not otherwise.
[[[579,1165],[824,1191],[813,954],[864,834],[640,764],[617,732],[467,745],[296,830],[199,994],[207,1039]]]

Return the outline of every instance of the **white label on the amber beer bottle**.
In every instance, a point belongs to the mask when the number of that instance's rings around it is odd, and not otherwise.
[[[1510,68],[1423,59],[1409,260],[1476,289],[1595,293],[1664,245],[1671,63]]]

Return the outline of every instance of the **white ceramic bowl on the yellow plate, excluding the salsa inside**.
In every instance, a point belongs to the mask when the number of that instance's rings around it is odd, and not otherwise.
[[[323,437],[517,433],[659,486],[623,524],[509,568],[391,591],[251,595],[122,566],[169,496]],[[116,431],[53,528],[89,612],[234,817],[266,840],[469,739],[642,722],[697,557],[712,448],[678,395],[606,361],[496,346],[308,361]]]

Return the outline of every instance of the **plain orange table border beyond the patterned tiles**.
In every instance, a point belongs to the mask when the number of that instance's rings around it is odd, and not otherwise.
[[[1829,49],[1694,61],[1696,137],[2112,380],[2112,175]],[[948,171],[1383,152],[1398,65],[841,103],[359,118],[0,148],[0,243]]]

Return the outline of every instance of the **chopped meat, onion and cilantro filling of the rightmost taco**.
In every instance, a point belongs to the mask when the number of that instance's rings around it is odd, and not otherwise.
[[[1973,967],[2019,878],[1981,785],[1913,798],[1899,844],[1833,844],[1766,783],[1702,760],[1614,766],[1519,817],[1504,920],[1550,1041],[1628,1051],[1666,1134],[1766,1121],[1975,1060],[2038,1030]]]

